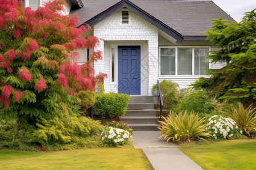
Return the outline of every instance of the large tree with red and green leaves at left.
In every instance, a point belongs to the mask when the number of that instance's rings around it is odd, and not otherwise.
[[[73,51],[94,48],[99,40],[85,39],[77,16],[60,14],[63,5],[56,0],[32,11],[22,2],[0,0],[0,114],[19,129],[42,128],[61,112],[72,114],[78,92],[93,91],[106,76],[94,76],[91,64],[102,58],[100,51],[77,64],[79,53]]]

